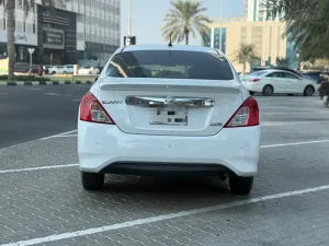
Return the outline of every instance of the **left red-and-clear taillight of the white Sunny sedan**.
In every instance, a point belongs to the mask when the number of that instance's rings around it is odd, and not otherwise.
[[[80,120],[115,125],[97,97],[90,92],[81,99]]]

